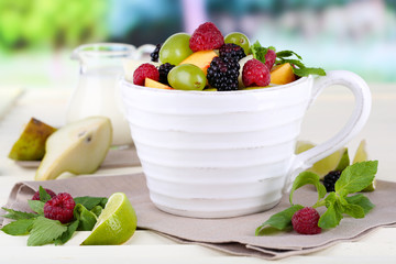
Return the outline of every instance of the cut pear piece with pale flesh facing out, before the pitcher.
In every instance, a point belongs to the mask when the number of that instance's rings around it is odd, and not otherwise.
[[[112,141],[112,127],[106,117],[90,117],[53,133],[46,141],[46,153],[35,179],[55,179],[61,174],[95,173],[103,162]]]

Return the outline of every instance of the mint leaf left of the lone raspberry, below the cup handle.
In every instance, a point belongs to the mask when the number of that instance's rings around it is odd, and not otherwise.
[[[283,210],[278,213],[273,215],[268,220],[266,220],[265,222],[263,222],[255,231],[255,235],[261,235],[263,229],[266,226],[273,227],[277,230],[285,230],[287,228],[292,227],[292,218],[293,215],[302,209],[304,206],[301,205],[294,205],[289,208],[287,208],[286,210]]]

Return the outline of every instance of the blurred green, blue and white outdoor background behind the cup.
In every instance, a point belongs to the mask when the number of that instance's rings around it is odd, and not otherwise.
[[[78,45],[156,44],[205,21],[309,66],[396,82],[395,0],[0,0],[0,88],[69,88]]]

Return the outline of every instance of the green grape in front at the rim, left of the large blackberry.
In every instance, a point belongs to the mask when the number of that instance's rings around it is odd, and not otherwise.
[[[204,72],[193,64],[182,64],[168,74],[169,85],[178,90],[202,90],[207,84]]]

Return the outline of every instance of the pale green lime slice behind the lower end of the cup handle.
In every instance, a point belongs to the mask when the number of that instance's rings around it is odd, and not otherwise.
[[[296,154],[308,151],[315,146],[314,143],[308,141],[298,141],[296,145]],[[345,152],[345,147],[342,147],[329,156],[315,163],[312,167],[308,168],[308,172],[312,172],[322,179],[329,172],[334,170],[340,163],[340,160]]]

